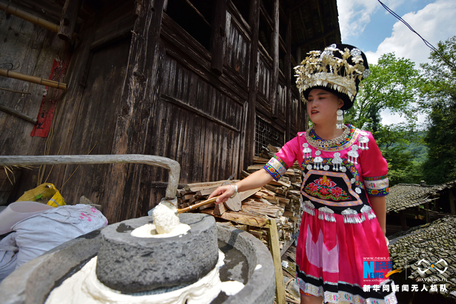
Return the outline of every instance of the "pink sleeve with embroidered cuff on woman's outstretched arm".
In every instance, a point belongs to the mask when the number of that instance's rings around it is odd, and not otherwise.
[[[297,160],[299,154],[299,141],[295,137],[287,142],[276,155],[264,165],[263,169],[266,170],[275,180],[279,180],[285,172]]]

